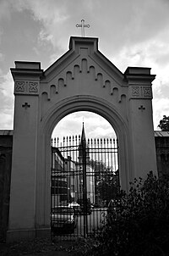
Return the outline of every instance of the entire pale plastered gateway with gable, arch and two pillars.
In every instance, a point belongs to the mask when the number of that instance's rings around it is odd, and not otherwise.
[[[15,62],[14,137],[7,240],[50,236],[51,136],[67,114],[91,111],[112,125],[119,142],[120,183],[156,174],[150,68],[124,74],[99,50],[98,39],[71,37],[47,70]]]

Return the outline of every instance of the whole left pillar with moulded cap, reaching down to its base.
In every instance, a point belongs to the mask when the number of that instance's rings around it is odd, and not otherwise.
[[[14,140],[7,241],[35,237],[35,178],[41,64],[15,62]]]

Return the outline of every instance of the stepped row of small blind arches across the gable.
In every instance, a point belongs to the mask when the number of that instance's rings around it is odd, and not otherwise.
[[[98,88],[101,86],[109,95],[112,95],[112,97],[117,97],[118,102],[121,103],[122,95],[126,96],[126,90],[123,92],[119,81],[115,80],[103,71],[104,70],[100,70],[98,67],[95,67],[93,63],[89,64],[87,58],[82,58],[79,63],[75,63],[73,67],[65,70],[51,81],[48,92],[45,91],[48,94],[48,100],[51,100],[53,95],[59,94],[63,87],[69,85],[72,86],[73,83],[75,84],[77,81],[82,80],[86,74],[88,84],[90,83],[91,85],[95,86],[96,83],[98,83]]]

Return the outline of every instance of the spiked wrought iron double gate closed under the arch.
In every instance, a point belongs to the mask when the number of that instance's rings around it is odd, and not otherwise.
[[[65,240],[101,232],[107,204],[119,191],[115,139],[52,139],[52,235]]]

